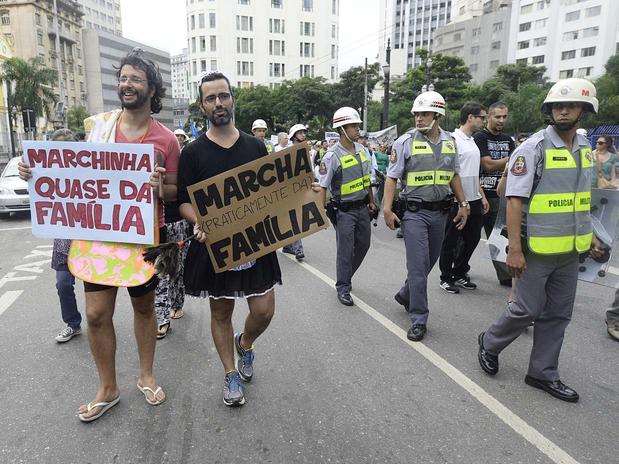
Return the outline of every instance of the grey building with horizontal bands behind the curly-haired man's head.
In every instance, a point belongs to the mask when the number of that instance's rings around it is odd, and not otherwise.
[[[92,114],[110,111],[118,108],[118,82],[115,66],[134,48],[141,48],[150,60],[154,61],[163,77],[166,97],[162,100],[163,109],[156,115],[161,123],[169,128],[174,127],[172,117],[172,79],[170,54],[148,45],[118,37],[108,32],[95,29],[84,29],[84,64],[86,80],[88,81],[88,111]]]

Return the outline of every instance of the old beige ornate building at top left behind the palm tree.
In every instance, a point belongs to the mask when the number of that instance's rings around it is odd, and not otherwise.
[[[82,16],[82,7],[73,0],[5,0],[0,3],[1,30],[13,42],[15,56],[23,59],[39,56],[47,66],[59,70],[59,80],[53,90],[59,101],[64,93],[64,105],[58,107],[62,112],[86,102],[80,32]],[[55,119],[61,117],[54,115]],[[43,118],[39,118],[37,126],[41,131],[50,128]]]

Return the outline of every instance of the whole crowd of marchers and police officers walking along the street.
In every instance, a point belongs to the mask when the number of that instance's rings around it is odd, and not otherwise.
[[[255,343],[274,315],[281,269],[271,252],[215,272],[188,187],[291,144],[307,143],[307,127],[296,124],[288,133],[279,133],[276,145],[266,139],[264,120],[254,121],[252,135],[244,133],[235,127],[235,98],[228,78],[211,72],[198,84],[199,106],[209,128],[188,143],[182,130],[173,134],[152,117],[165,94],[153,62],[134,50],[121,61],[117,77],[121,109],[89,118],[88,141],[153,144],[158,165],[150,185],[162,199],[160,240],[176,242],[194,235],[181,247],[175,275],[146,276],[140,285],[128,287],[140,359],[137,388],[150,405],[165,401],[153,374],[156,339],[167,336],[172,319],[183,317],[184,298],[190,295],[209,303],[211,333],[223,368],[223,402],[243,405],[244,388],[254,375]],[[419,94],[411,109],[414,128],[390,148],[370,147],[357,111],[343,107],[332,120],[339,141],[314,143],[312,189],[336,232],[337,299],[346,306],[355,304],[352,279],[371,246],[370,222],[382,205],[385,224],[399,228],[404,239],[405,279],[394,298],[409,315],[408,338],[420,342],[428,333],[430,271],[439,261],[438,284],[450,294],[477,288],[469,260],[482,229],[487,236],[492,232],[504,191],[509,250],[507,262],[497,264],[496,272],[501,285],[513,288],[504,313],[478,336],[480,367],[496,375],[500,353],[534,324],[525,382],[561,400],[578,401],[576,391],[560,379],[559,353],[574,305],[579,254],[603,252],[589,220],[591,186],[616,186],[614,169],[607,167],[616,162],[612,140],[601,137],[592,152],[588,140],[577,133],[585,113],[597,111],[595,87],[583,79],[557,82],[541,108],[550,124],[526,140],[514,141],[504,133],[509,117],[505,103],[489,108],[464,105],[453,133],[441,128],[445,106],[437,92]],[[63,129],[53,139],[75,136]],[[31,176],[24,163],[20,173],[25,179]],[[81,332],[75,278],[67,266],[70,243],[54,241],[52,267],[66,324],[58,342]],[[305,258],[300,240],[282,251],[299,261]],[[99,376],[93,400],[78,411],[84,422],[98,419],[120,399],[112,321],[117,291],[116,286],[84,282],[88,337]],[[242,329],[235,331],[232,314],[238,298],[247,300],[249,313]],[[607,321],[609,334],[619,340],[617,308],[619,291]]]

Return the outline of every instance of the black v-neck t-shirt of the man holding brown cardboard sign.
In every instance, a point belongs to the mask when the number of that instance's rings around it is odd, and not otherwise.
[[[187,187],[268,155],[267,147],[256,137],[239,131],[238,140],[223,148],[206,135],[183,148],[178,164],[178,201],[191,203]]]

